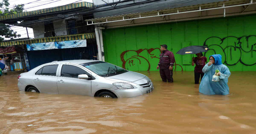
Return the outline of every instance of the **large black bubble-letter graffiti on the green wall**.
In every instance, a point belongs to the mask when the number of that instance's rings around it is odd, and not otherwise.
[[[225,38],[210,37],[204,42],[209,48],[207,53],[221,54],[224,64],[236,65],[239,62],[246,66],[256,64],[256,35],[250,36],[227,36]]]

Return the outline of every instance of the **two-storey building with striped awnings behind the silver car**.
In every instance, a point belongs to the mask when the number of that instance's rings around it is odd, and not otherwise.
[[[60,60],[94,59],[97,56],[94,26],[87,26],[92,3],[78,2],[64,6],[0,16],[0,23],[33,28],[34,39],[1,42],[2,47],[23,48],[23,62],[30,70],[44,63]],[[17,22],[20,21],[21,23]],[[86,56],[84,56],[86,55]]]

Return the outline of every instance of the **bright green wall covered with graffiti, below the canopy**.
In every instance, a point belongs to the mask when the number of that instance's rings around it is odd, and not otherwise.
[[[256,71],[256,15],[106,29],[105,61],[131,71],[156,71],[160,45],[174,53],[177,71],[193,71],[182,47],[206,45],[231,71]]]

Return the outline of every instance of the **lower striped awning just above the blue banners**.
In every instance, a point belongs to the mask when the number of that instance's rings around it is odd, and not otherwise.
[[[59,42],[66,40],[85,40],[95,38],[95,33],[90,34],[74,34],[74,35],[66,35],[66,36],[56,36],[56,37],[48,37],[48,38],[36,38],[32,40],[17,40],[10,42],[0,42],[0,46],[15,46],[22,44],[32,44],[32,43],[43,43],[43,42]]]

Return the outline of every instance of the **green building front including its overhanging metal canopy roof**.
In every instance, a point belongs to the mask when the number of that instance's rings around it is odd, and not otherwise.
[[[190,5],[179,3],[178,7],[173,0],[166,2],[168,9],[152,11],[146,6],[148,12],[127,9],[129,14],[120,12],[87,20],[106,27],[105,60],[132,71],[156,71],[160,45],[166,44],[176,59],[174,70],[193,71],[191,62],[195,55],[176,52],[186,46],[204,45],[209,48],[204,56],[221,54],[222,62],[231,71],[256,71],[256,2],[197,0]]]

